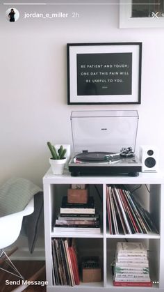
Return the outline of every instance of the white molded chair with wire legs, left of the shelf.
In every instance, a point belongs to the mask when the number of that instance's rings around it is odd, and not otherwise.
[[[11,268],[13,268],[14,272],[10,272],[1,267],[0,267],[0,270],[9,272],[10,274],[20,277],[21,279],[24,279],[24,277],[22,277],[22,275],[19,273],[19,271],[17,270],[15,265],[12,263],[12,261],[10,261],[9,256],[6,254],[6,252],[3,249],[15,243],[15,240],[17,240],[19,233],[21,231],[23,217],[33,213],[33,210],[34,210],[34,199],[31,199],[31,201],[24,208],[24,210],[18,213],[0,217],[0,234],[1,234],[0,259],[2,261],[3,259],[4,261],[8,260],[8,265]]]

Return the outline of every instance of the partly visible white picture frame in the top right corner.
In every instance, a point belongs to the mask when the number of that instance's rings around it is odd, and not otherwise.
[[[120,0],[120,29],[164,27],[164,17],[158,17],[158,11],[152,11],[149,17],[131,17],[132,5],[132,0]]]

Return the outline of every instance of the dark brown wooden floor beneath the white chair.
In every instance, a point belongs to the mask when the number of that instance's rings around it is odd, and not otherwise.
[[[24,279],[30,279],[31,276],[35,274],[40,268],[44,267],[44,261],[13,261],[15,264],[15,267],[21,274],[23,275]],[[6,263],[3,263],[1,265],[2,268],[6,268]],[[19,280],[18,277],[15,277],[13,275],[10,275],[8,272],[3,272],[0,270],[0,291],[1,292],[10,292],[16,289],[17,285],[7,285],[6,280],[8,281],[17,281]],[[45,276],[45,268],[42,270],[41,274],[38,276],[38,279],[36,279],[37,283],[38,281],[46,281],[46,276]],[[21,280],[22,283],[22,280]],[[46,286],[40,286],[40,285],[31,285],[28,286],[24,291],[28,292],[45,292],[46,291]]]

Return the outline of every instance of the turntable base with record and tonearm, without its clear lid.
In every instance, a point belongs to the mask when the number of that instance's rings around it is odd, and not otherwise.
[[[68,164],[71,176],[138,176],[142,171],[142,164],[134,154],[122,157],[116,153],[107,160],[108,155],[111,153],[79,153]]]

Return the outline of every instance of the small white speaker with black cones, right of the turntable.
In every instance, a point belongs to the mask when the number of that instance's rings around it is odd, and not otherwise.
[[[158,172],[159,151],[156,146],[140,146],[142,172]]]

